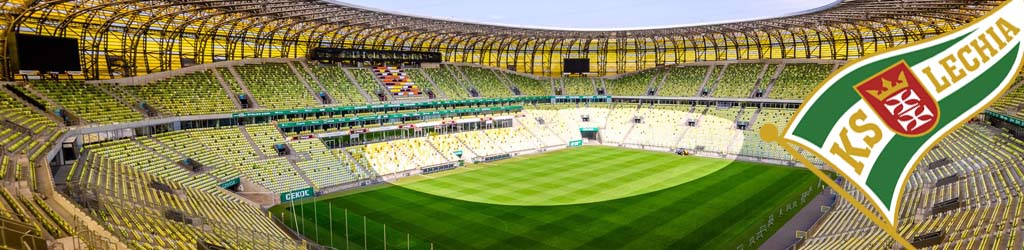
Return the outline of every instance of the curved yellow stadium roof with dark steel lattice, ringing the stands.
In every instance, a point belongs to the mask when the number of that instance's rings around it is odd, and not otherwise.
[[[727,24],[556,30],[397,14],[335,0],[14,0],[0,4],[0,42],[11,32],[78,38],[88,78],[167,71],[186,58],[301,57],[319,46],[436,51],[445,61],[516,65],[551,75],[560,73],[562,57],[591,57],[598,74],[614,74],[694,60],[857,57],[955,29],[1001,2],[842,0],[806,13]],[[9,59],[6,52],[0,50],[0,59]],[[114,65],[109,56],[124,57],[131,72],[104,74]]]

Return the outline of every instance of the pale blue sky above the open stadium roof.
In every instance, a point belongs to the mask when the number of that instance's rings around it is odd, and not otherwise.
[[[629,29],[785,15],[836,0],[333,0],[458,20],[559,29]]]

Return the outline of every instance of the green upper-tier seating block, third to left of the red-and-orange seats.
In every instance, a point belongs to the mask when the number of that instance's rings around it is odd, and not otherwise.
[[[122,88],[169,115],[222,114],[234,110],[231,99],[209,71]]]

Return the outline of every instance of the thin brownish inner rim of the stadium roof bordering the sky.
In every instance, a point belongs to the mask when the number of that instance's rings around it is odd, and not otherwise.
[[[609,38],[686,36],[786,29],[830,29],[844,26],[896,25],[902,22],[924,23],[942,18],[954,23],[967,22],[979,11],[987,11],[999,1],[963,0],[840,0],[825,7],[776,18],[743,20],[728,24],[689,25],[630,30],[567,30],[508,27],[456,22],[409,14],[396,14],[380,9],[319,0],[250,0],[250,1],[171,1],[170,5],[187,3],[207,5],[223,11],[243,11],[271,18],[289,18],[296,24],[318,23],[339,27],[387,28],[417,33],[444,33],[467,36],[505,36],[519,38]]]

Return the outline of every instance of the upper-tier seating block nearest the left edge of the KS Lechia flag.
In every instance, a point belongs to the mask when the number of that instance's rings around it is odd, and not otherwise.
[[[814,87],[828,77],[834,65],[791,64],[782,68],[775,85],[768,90],[768,98],[804,99]]]

